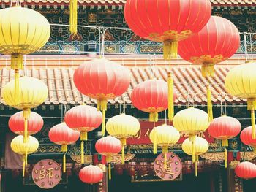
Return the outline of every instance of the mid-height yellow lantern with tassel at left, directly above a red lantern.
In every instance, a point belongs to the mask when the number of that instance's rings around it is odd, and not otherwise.
[[[30,109],[42,104],[48,96],[48,88],[44,82],[34,77],[20,77],[18,103],[15,100],[15,81],[11,80],[4,85],[2,96],[5,104],[23,110],[24,118],[24,142],[27,142],[28,119]]]

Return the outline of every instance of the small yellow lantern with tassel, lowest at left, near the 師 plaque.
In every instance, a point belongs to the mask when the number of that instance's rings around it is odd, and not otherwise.
[[[29,136],[29,141],[24,143],[23,136],[19,135],[12,139],[11,148],[13,152],[23,155],[23,177],[25,176],[25,167],[28,164],[27,155],[34,153],[39,147],[37,138]]]

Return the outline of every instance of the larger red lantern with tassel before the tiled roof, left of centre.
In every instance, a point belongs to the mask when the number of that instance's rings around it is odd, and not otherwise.
[[[98,110],[102,111],[104,136],[108,99],[114,99],[127,91],[130,83],[129,70],[106,58],[97,58],[80,65],[73,78],[78,91],[97,99]]]

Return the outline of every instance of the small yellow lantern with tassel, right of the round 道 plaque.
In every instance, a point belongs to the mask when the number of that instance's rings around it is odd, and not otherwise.
[[[206,139],[203,139],[201,137],[195,137],[195,176],[197,177],[197,161],[198,161],[198,155],[202,155],[203,153],[206,153],[206,151],[209,148],[209,144],[206,141]],[[192,141],[188,138],[182,143],[182,150],[184,150],[184,153],[187,153],[188,155],[192,155],[193,149],[192,149]]]

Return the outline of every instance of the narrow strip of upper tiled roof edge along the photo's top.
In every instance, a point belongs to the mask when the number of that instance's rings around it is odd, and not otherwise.
[[[25,4],[69,4],[69,0],[20,0]],[[124,5],[126,0],[78,0],[82,5]],[[0,0],[0,3],[9,4],[10,0]],[[12,0],[15,3],[15,0]],[[256,0],[211,0],[215,6],[255,6]]]

